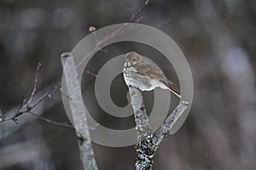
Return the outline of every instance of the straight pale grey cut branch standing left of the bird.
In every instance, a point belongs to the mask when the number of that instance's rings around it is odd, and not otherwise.
[[[97,170],[98,167],[96,165],[92,144],[90,139],[86,139],[84,137],[90,136],[90,132],[86,112],[84,111],[84,102],[80,93],[81,88],[73,56],[70,53],[61,54],[61,63],[64,68],[63,72],[67,84],[66,93],[68,95],[68,103],[72,112],[73,124],[78,136],[80,157],[84,170]]]

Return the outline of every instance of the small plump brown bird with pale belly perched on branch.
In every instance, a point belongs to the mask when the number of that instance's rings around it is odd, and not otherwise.
[[[125,54],[123,77],[128,87],[139,88],[141,91],[151,91],[154,88],[168,89],[181,98],[177,90],[172,88],[173,82],[166,78],[160,67],[135,51]]]

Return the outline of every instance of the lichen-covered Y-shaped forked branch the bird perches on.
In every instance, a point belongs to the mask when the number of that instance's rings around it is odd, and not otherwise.
[[[151,170],[153,166],[153,157],[157,148],[170,132],[175,122],[177,122],[177,119],[183,114],[183,111],[186,110],[189,102],[182,101],[177,105],[171,115],[166,118],[166,121],[161,125],[156,133],[152,135],[141,91],[137,88],[129,87],[129,93],[137,126],[136,169]]]

